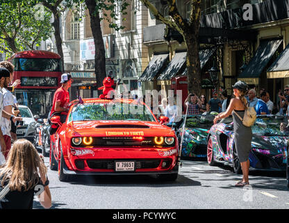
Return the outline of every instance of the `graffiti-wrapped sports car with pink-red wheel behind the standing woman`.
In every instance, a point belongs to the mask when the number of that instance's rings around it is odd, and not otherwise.
[[[233,171],[240,174],[241,167],[234,144],[232,118],[217,123],[208,134],[208,164],[227,162],[233,164]],[[229,123],[229,124],[228,124]],[[286,146],[288,131],[286,116],[258,116],[252,125],[250,167],[263,170],[286,170]]]

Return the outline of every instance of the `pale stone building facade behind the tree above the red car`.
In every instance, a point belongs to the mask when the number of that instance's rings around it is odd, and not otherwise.
[[[117,1],[119,3],[119,1]],[[115,31],[109,27],[109,17],[101,20],[104,47],[106,49],[106,75],[120,79],[118,91],[138,94],[138,77],[142,74],[142,63],[147,62],[147,47],[142,45],[142,31],[147,26],[147,8],[138,0],[129,0],[126,15],[119,12],[116,24],[124,29]],[[104,14],[109,12],[104,10]],[[94,74],[95,52],[90,15],[88,10],[67,10],[63,14],[63,53],[65,72],[74,77],[72,98],[97,97]],[[78,90],[78,91],[76,91]]]

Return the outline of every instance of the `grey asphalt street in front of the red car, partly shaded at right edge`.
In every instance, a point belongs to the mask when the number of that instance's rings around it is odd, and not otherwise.
[[[231,167],[208,166],[206,160],[182,160],[173,183],[151,176],[77,176],[67,183],[48,171],[51,208],[96,209],[289,209],[285,172],[250,171],[250,186],[234,187],[242,178]],[[45,157],[49,166],[49,158]],[[35,198],[33,208],[42,208]]]

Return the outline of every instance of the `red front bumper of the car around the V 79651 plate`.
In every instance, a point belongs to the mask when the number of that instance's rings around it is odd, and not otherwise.
[[[70,148],[64,174],[139,175],[178,172],[177,148]],[[115,162],[135,162],[134,171],[115,171]]]

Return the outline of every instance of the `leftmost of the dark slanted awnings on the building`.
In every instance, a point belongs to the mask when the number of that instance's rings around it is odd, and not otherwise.
[[[167,64],[169,59],[169,54],[155,54],[153,59],[149,62],[145,71],[142,72],[142,75],[138,79],[138,82],[150,82],[162,70],[163,66]]]

